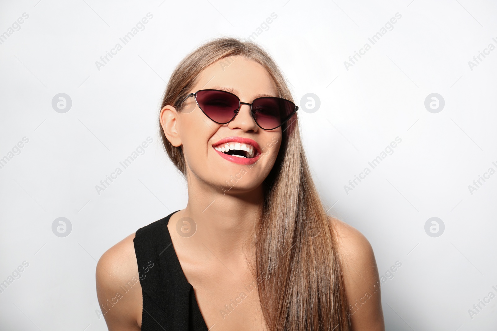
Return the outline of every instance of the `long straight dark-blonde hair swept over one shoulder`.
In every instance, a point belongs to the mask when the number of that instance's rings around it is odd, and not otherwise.
[[[200,72],[232,56],[259,63],[274,80],[278,96],[293,100],[285,77],[266,51],[250,41],[222,37],[199,46],[176,66],[161,109],[171,105],[181,111],[178,102],[190,93]],[[167,140],[160,124],[159,130],[169,158],[186,175],[181,148]],[[263,217],[253,241],[262,314],[271,331],[348,331],[336,237],[309,171],[297,114],[282,130],[278,156],[264,181]]]

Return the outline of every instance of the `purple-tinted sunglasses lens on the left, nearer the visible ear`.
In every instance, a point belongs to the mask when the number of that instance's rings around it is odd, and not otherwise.
[[[198,91],[196,100],[205,115],[214,122],[223,124],[235,117],[240,105],[240,100],[236,95],[225,91]]]

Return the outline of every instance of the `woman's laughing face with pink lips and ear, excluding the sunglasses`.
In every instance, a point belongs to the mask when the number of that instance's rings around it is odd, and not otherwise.
[[[225,58],[205,68],[189,93],[201,89],[228,90],[247,103],[261,96],[278,96],[266,69],[241,56]],[[224,194],[259,187],[281,145],[281,127],[260,129],[250,115],[250,106],[243,104],[233,121],[220,125],[210,120],[190,97],[179,112],[171,106],[164,107],[161,124],[167,139],[183,149],[189,180],[194,177]],[[229,147],[235,150],[226,153]]]

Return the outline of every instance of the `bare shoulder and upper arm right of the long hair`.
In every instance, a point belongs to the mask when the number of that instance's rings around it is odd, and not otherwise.
[[[352,330],[384,331],[381,283],[373,248],[354,227],[334,217],[330,220],[338,244]]]

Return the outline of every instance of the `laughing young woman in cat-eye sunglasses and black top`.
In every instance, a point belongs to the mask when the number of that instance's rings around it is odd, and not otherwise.
[[[384,330],[371,246],[327,215],[291,100],[252,42],[214,39],[175,68],[160,132],[188,203],[100,258],[110,331]]]

